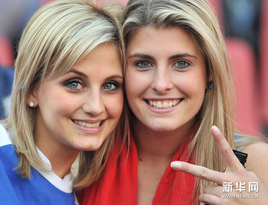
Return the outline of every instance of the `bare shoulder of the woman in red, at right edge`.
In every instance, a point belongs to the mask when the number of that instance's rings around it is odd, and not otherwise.
[[[248,144],[244,147],[242,152],[248,154],[245,164],[247,171],[254,172],[266,191],[268,191],[268,143],[256,142]]]

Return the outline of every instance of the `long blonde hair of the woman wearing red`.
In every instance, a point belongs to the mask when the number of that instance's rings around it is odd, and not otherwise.
[[[194,136],[188,146],[189,156],[196,165],[224,171],[225,163],[211,135],[216,125],[233,147],[233,84],[231,67],[217,18],[205,0],[130,0],[122,14],[122,33],[125,46],[141,27],[181,28],[188,32],[202,51],[212,88],[206,90],[202,107],[197,114]],[[207,157],[210,156],[210,157]],[[194,200],[211,184],[196,179]]]

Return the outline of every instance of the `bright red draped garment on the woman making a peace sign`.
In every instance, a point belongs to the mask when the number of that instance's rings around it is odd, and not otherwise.
[[[187,145],[188,137],[174,154],[172,161],[186,160],[184,153]],[[130,139],[128,157],[127,145],[125,145],[120,156],[116,159],[119,148],[120,144],[110,155],[102,179],[78,193],[80,205],[137,204],[138,155],[133,137],[131,136]],[[158,184],[152,205],[195,204],[190,200],[193,191],[194,176],[173,170],[169,163]]]

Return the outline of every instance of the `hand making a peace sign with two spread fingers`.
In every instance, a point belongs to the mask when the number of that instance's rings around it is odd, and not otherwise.
[[[215,182],[218,185],[208,185],[205,187],[204,193],[200,194],[199,201],[210,205],[227,205],[227,204],[268,204],[268,194],[258,177],[251,171],[247,171],[239,162],[229,143],[225,140],[223,134],[218,127],[212,126],[211,133],[219,147],[222,157],[225,161],[225,172],[218,172],[208,168],[189,164],[186,162],[174,161],[171,167],[174,170],[179,170],[192,174],[201,179]],[[230,193],[223,192],[223,183],[232,182],[233,191]],[[244,183],[246,190],[240,192],[236,190],[236,183]],[[249,192],[249,182],[258,182],[258,192]],[[223,198],[223,195],[250,195],[251,198]],[[252,194],[258,195],[258,198],[253,198]]]

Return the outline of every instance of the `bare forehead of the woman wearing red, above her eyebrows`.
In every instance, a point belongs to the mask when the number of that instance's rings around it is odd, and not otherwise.
[[[130,38],[127,53],[132,55],[135,52],[143,51],[159,52],[159,54],[163,54],[163,51],[166,54],[169,52],[183,52],[203,56],[191,35],[177,27],[156,29],[146,26],[139,28]]]

